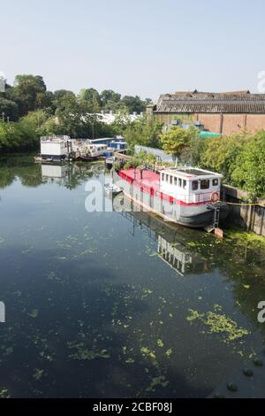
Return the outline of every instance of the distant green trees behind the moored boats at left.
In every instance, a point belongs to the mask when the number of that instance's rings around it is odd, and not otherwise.
[[[40,135],[70,135],[97,138],[120,135],[128,127],[128,114],[144,112],[150,99],[121,96],[111,89],[81,89],[78,95],[66,89],[51,92],[42,76],[17,75],[14,85],[0,93],[0,151],[37,146]],[[115,112],[112,124],[102,122],[101,112]],[[145,129],[142,123],[142,129]],[[137,131],[140,129],[137,129]],[[133,136],[133,127],[128,135]]]

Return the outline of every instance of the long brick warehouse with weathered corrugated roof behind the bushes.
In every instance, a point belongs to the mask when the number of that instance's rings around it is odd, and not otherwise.
[[[254,133],[265,129],[265,94],[176,92],[160,96],[155,105],[148,106],[147,112],[166,125],[185,119],[200,122],[205,130],[222,135],[244,129]]]

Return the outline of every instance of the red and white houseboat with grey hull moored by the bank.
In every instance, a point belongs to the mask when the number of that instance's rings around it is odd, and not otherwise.
[[[131,168],[114,173],[117,186],[136,205],[186,227],[213,225],[222,178],[222,174],[191,167],[157,173]],[[225,219],[228,206],[219,204],[219,210],[220,220]]]

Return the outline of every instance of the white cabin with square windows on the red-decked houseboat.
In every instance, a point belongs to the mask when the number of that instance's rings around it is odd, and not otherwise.
[[[168,168],[160,171],[160,189],[186,204],[213,202],[220,199],[222,178],[199,168]]]

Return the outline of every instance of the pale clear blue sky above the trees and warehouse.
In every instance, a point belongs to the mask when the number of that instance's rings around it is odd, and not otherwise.
[[[265,70],[264,0],[8,0],[0,71],[49,89],[256,92]]]

